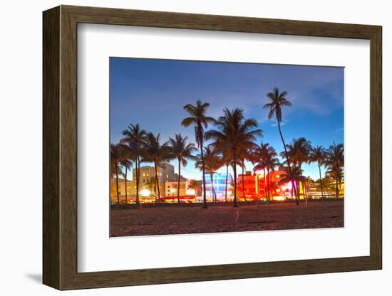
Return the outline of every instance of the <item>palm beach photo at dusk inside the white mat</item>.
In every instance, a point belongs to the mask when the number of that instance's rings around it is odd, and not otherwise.
[[[344,67],[109,65],[110,237],[344,227]]]

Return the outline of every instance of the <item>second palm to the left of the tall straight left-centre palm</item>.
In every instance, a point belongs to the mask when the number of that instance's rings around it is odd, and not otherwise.
[[[158,166],[161,166],[161,162],[171,159],[170,147],[165,142],[160,144],[160,134],[156,137],[152,132],[145,135],[145,141],[143,143],[143,162],[153,162],[155,167],[155,182],[158,189],[158,200],[160,200],[160,188],[158,179]],[[155,203],[157,199],[155,198]]]

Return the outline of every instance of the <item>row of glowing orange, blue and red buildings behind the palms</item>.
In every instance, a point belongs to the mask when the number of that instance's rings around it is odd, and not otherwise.
[[[281,184],[285,176],[284,171],[272,171],[269,174],[270,199],[282,200],[292,198],[292,186]],[[174,172],[174,166],[165,163],[158,168],[160,184],[160,196],[163,201],[177,201],[178,174]],[[201,178],[200,178],[201,179]],[[237,177],[237,196],[239,199],[265,199],[267,195],[267,176],[264,172],[252,174],[246,171],[244,175]],[[126,196],[129,202],[133,202],[136,196],[136,171],[133,169],[133,181],[118,179],[118,191],[122,201]],[[192,180],[180,176],[180,199],[182,201],[200,201],[202,188],[191,189]],[[126,186],[125,186],[126,184]],[[214,173],[212,181],[210,174],[205,174],[206,196],[208,200],[226,201],[232,200],[234,182],[231,174]],[[155,168],[153,166],[140,167],[139,196],[142,202],[155,201],[158,189],[155,188]],[[111,199],[117,201],[117,187],[115,179],[111,180]]]

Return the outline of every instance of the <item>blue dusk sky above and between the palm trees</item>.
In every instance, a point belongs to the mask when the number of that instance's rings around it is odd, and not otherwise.
[[[212,117],[222,115],[224,107],[244,109],[245,117],[256,119],[264,132],[257,143],[268,142],[281,152],[277,122],[268,120],[262,108],[275,86],[286,90],[292,102],[283,110],[286,142],[305,137],[314,146],[343,143],[344,68],[143,58],[110,58],[110,142],[118,142],[130,123],[160,133],[162,142],[175,133],[195,142],[194,129],[181,125],[187,116],[182,106],[202,100],[210,103],[207,114]],[[177,172],[177,162],[172,164]],[[318,179],[316,164],[303,169],[306,176]],[[181,173],[200,179],[193,162]]]

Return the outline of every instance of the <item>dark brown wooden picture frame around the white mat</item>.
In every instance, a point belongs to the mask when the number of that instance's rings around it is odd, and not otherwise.
[[[359,38],[371,46],[370,255],[350,258],[78,273],[77,25],[185,28]],[[43,283],[58,290],[382,268],[381,26],[81,6],[43,12]]]

